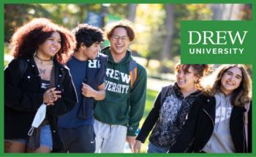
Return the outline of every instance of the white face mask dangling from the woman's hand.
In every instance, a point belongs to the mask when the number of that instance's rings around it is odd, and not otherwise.
[[[33,134],[34,128],[38,128],[42,121],[45,119],[45,114],[46,114],[46,104],[41,104],[39,109],[37,110],[36,115],[34,115],[34,120],[31,125],[31,129],[29,129],[28,135],[31,136]]]

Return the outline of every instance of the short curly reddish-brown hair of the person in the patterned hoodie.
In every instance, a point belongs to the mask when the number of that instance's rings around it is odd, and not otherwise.
[[[183,65],[182,70],[184,72],[189,72],[189,67],[192,67],[195,76],[198,77],[197,82],[195,82],[195,86],[197,87],[197,89],[202,89],[202,85],[200,84],[201,80],[203,76],[205,76],[209,72],[210,66],[208,66],[208,64],[177,64],[175,67],[176,72],[178,72],[178,69],[180,69],[181,65]]]

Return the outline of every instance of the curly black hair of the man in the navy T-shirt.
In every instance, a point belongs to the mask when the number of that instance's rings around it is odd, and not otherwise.
[[[94,42],[103,42],[103,31],[95,26],[88,25],[86,23],[79,24],[72,30],[72,34],[75,35],[77,41],[75,51],[81,46],[82,43],[86,47],[90,47]]]

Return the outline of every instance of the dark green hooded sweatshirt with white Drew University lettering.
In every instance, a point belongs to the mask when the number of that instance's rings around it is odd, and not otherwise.
[[[102,123],[127,126],[127,135],[135,136],[146,102],[146,69],[137,64],[137,80],[131,88],[129,76],[131,52],[127,50],[127,55],[119,63],[113,61],[109,47],[105,47],[102,53],[108,55],[106,96],[104,100],[97,102],[94,118]]]

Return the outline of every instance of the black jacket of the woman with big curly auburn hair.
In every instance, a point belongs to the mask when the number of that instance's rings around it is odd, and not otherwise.
[[[25,72],[20,72],[20,61],[26,61]],[[58,133],[57,117],[72,110],[77,102],[75,88],[69,70],[53,59],[56,90],[62,91],[61,98],[47,107],[53,152],[63,149]],[[28,131],[37,109],[43,102],[41,77],[33,56],[15,58],[4,69],[4,139],[27,139]]]

